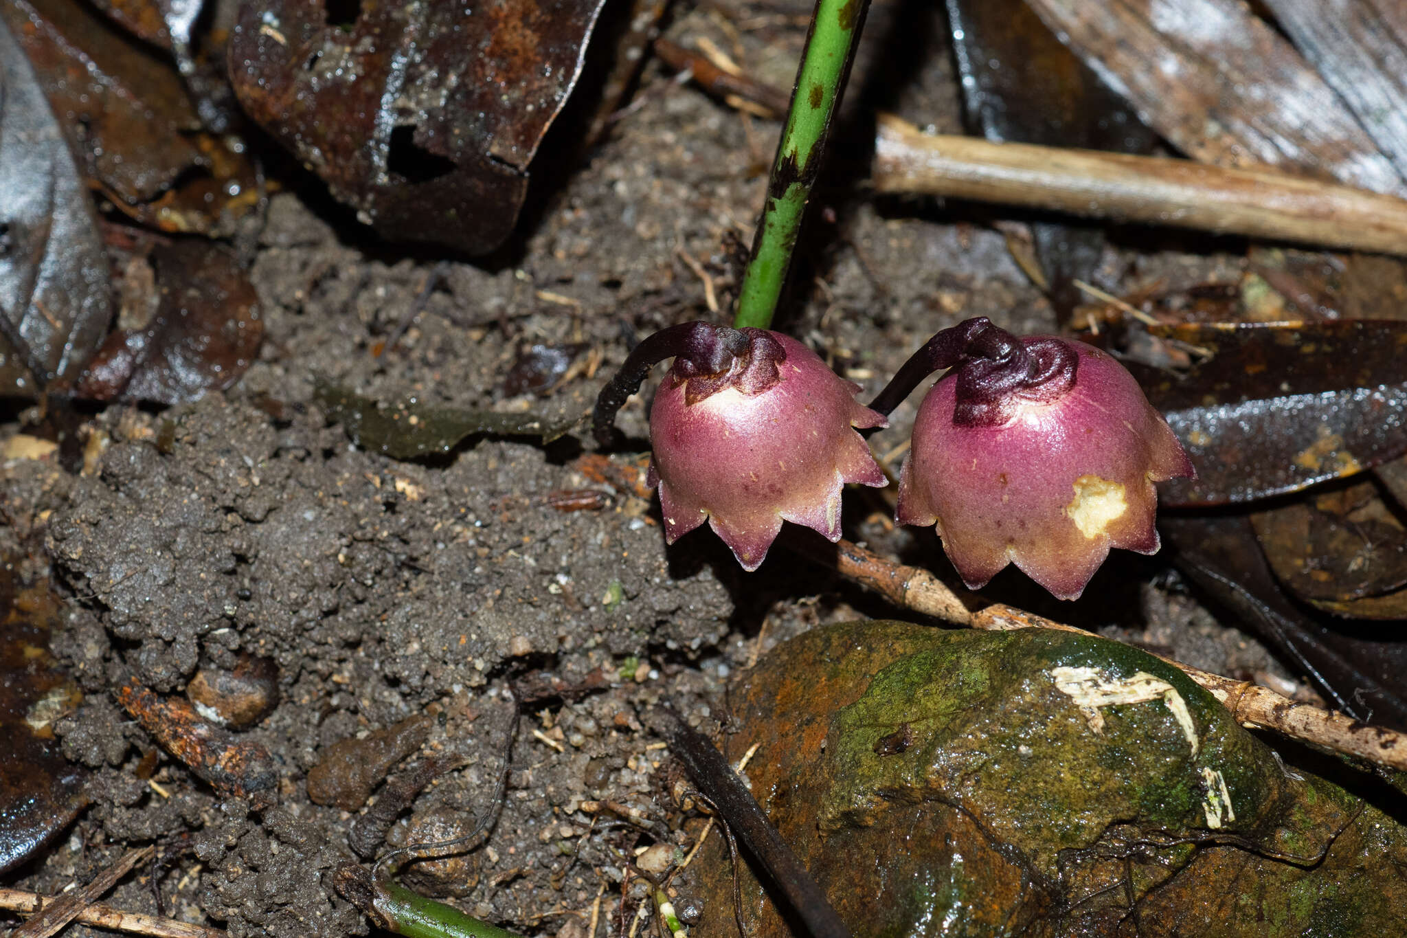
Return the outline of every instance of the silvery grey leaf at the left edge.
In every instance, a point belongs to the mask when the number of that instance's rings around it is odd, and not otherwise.
[[[110,319],[91,201],[0,20],[0,395],[34,394],[35,380],[76,374]]]

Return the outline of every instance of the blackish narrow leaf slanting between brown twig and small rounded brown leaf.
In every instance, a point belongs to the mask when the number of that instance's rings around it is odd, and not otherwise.
[[[1335,709],[1407,728],[1407,643],[1400,629],[1331,629],[1310,617],[1280,591],[1245,515],[1166,513],[1158,527],[1176,548],[1178,565],[1235,613],[1241,627],[1309,676]]]

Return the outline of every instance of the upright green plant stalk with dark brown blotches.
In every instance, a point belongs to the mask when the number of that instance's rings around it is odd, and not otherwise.
[[[810,190],[820,176],[826,136],[850,76],[855,41],[868,8],[870,0],[816,0],[787,127],[782,128],[767,184],[767,204],[737,298],[737,314],[733,316],[737,329],[765,329],[772,323],[796,248],[796,232]]]

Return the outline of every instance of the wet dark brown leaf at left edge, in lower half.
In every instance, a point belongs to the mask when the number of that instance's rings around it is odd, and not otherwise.
[[[46,584],[20,584],[10,568],[0,567],[0,872],[68,827],[86,803],[87,780],[53,737],[53,721],[82,696],[49,654],[59,600]]]

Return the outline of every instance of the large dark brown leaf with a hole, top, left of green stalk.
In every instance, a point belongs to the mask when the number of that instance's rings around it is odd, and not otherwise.
[[[229,42],[245,110],[393,240],[487,253],[575,84],[604,0],[246,3]]]

